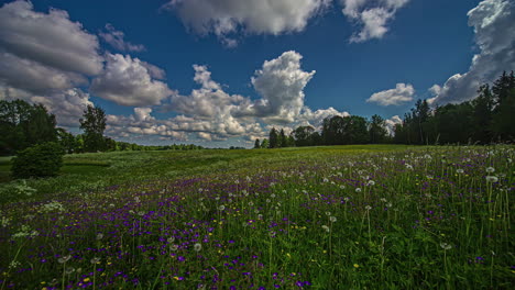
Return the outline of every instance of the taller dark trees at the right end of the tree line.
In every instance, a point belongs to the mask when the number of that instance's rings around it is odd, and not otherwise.
[[[491,144],[515,142],[515,76],[503,75],[480,86],[478,97],[458,104],[430,110],[418,100],[415,108],[396,125],[398,144]]]

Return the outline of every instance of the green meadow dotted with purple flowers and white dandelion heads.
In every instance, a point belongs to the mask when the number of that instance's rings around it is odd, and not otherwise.
[[[515,148],[70,155],[0,186],[0,289],[513,289]]]

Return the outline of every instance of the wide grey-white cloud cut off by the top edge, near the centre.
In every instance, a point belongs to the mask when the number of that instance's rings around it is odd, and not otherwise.
[[[278,35],[303,31],[308,21],[332,0],[171,0],[164,5],[189,30],[213,33],[228,46],[237,45],[230,35],[242,31]]]

